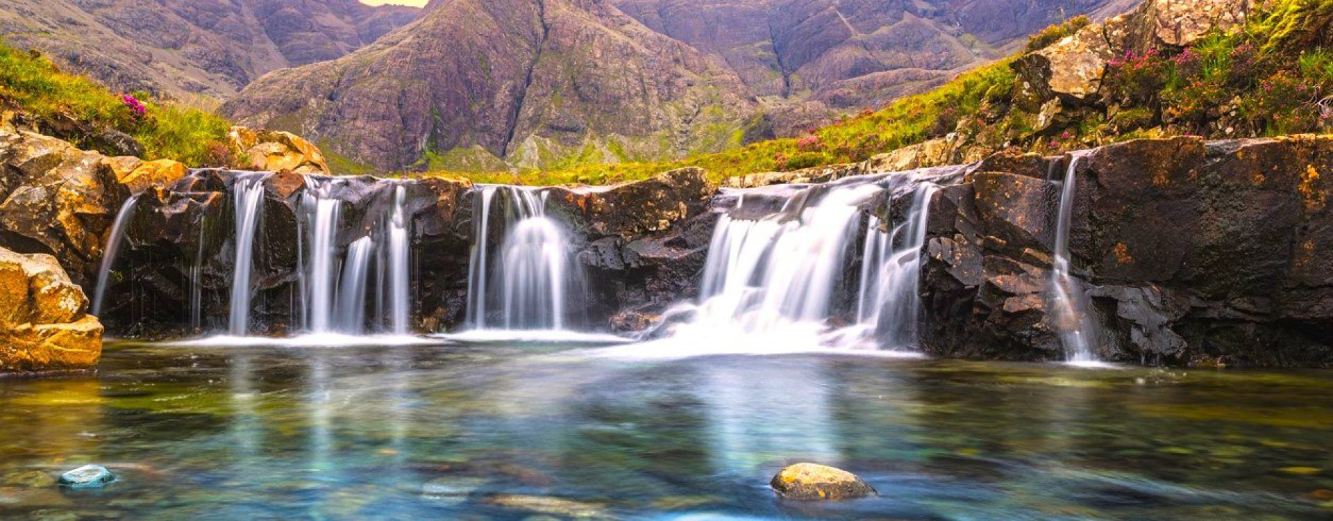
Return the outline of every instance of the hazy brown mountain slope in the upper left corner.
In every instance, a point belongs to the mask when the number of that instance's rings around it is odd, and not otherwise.
[[[347,55],[420,15],[357,0],[5,0],[0,37],[115,89],[227,97]]]

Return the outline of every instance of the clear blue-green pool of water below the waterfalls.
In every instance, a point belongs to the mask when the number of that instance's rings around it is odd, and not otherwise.
[[[1328,372],[599,349],[109,346],[0,380],[0,517],[1333,517]],[[881,496],[777,500],[798,461]],[[87,462],[120,481],[5,484]]]

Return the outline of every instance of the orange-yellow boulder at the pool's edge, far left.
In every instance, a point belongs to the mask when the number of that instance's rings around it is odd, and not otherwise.
[[[101,332],[55,257],[0,248],[0,373],[91,368]]]

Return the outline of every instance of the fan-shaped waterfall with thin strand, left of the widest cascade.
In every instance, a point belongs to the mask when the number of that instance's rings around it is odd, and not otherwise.
[[[488,329],[564,330],[572,294],[583,289],[564,227],[547,216],[545,193],[519,187],[483,187],[476,203],[476,237],[468,273],[469,325]],[[492,255],[491,213],[503,197],[505,221],[499,259]],[[499,262],[499,264],[496,264]],[[501,312],[491,324],[487,313]]]

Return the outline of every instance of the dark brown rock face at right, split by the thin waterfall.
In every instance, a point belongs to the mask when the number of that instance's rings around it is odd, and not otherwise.
[[[1068,159],[1066,159],[1068,161]],[[1076,171],[1074,274],[1100,356],[1164,364],[1333,362],[1333,140],[1145,140]],[[944,356],[1060,360],[1046,322],[1058,195],[976,173],[932,208],[922,345]],[[1020,188],[1029,185],[1028,188]]]

